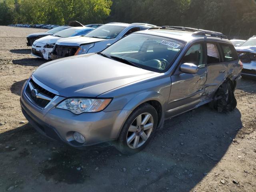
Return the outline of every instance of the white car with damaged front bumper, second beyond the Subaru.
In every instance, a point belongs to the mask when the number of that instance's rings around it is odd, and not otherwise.
[[[72,27],[68,29],[64,29],[60,32],[57,32],[53,35],[48,35],[42,38],[39,38],[34,41],[32,44],[31,55],[37,58],[44,58],[46,60],[49,59],[49,53],[52,52],[54,44],[61,38],[67,38],[78,32],[82,29],[85,30],[84,34],[90,32],[94,28],[90,27]]]

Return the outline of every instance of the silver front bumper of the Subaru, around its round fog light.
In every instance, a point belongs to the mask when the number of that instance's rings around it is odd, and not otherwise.
[[[23,90],[26,89],[26,86]],[[118,138],[122,122],[127,112],[96,112],[73,114],[68,110],[55,108],[64,97],[58,96],[46,108],[38,108],[22,91],[20,105],[22,112],[30,124],[41,134],[57,141],[65,142],[73,147],[83,147],[115,140]],[[116,126],[118,125],[118,126]],[[84,144],[76,142],[73,133],[79,132],[86,140]]]

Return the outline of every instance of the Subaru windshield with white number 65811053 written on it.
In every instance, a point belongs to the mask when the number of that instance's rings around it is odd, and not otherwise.
[[[122,58],[155,72],[165,72],[183,48],[184,42],[148,34],[130,34],[101,53],[115,59]],[[119,59],[119,61],[121,61]]]

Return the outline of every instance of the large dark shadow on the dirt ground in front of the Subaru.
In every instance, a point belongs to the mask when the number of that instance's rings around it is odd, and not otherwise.
[[[19,173],[23,191],[188,192],[224,156],[242,128],[240,119],[237,108],[220,114],[202,106],[166,121],[147,148],[133,156],[121,155],[112,146],[77,150],[26,124],[0,134],[0,178],[10,186],[12,172]]]

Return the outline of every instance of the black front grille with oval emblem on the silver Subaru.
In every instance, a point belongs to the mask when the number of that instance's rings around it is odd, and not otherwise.
[[[32,79],[30,79],[29,82],[33,85],[34,89],[36,89],[38,91],[38,93],[44,94],[44,95],[50,97],[51,99],[53,99],[54,96],[56,96],[52,92],[49,92],[48,90],[46,90],[46,89],[42,88],[41,86],[39,86],[38,84],[36,84]],[[30,98],[30,100],[32,100],[37,106],[39,106],[41,108],[46,107],[46,105],[50,102],[50,100],[32,96],[29,85],[27,85],[25,92],[26,92],[26,95]]]

